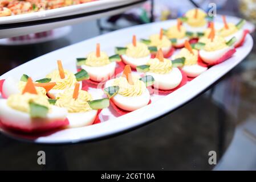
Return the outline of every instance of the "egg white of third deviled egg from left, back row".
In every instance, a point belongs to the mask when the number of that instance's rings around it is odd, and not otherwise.
[[[101,67],[90,67],[88,65],[82,65],[81,67],[87,71],[91,80],[100,82],[108,80],[108,78],[114,75],[116,62],[112,62]]]

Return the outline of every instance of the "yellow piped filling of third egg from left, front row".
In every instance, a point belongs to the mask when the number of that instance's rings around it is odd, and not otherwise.
[[[143,81],[139,80],[139,77],[132,76],[133,84],[129,84],[127,78],[118,77],[113,81],[112,86],[119,86],[118,93],[122,96],[133,97],[133,96],[141,96],[144,90],[146,89],[146,85]]]

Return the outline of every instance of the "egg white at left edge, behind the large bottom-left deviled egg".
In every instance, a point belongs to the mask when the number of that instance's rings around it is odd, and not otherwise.
[[[19,80],[8,77],[3,82],[2,93],[5,98],[8,98],[12,94],[21,93],[18,88]]]

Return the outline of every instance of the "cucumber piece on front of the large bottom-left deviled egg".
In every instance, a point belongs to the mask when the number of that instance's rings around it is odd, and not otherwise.
[[[45,118],[49,110],[48,107],[35,104],[34,102],[30,102],[29,107],[31,118]]]

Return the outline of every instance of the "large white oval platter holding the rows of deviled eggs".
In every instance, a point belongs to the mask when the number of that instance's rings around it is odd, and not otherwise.
[[[76,72],[75,58],[83,57],[88,52],[94,50],[96,43],[101,43],[101,49],[109,55],[113,55],[114,48],[116,46],[124,46],[131,42],[133,34],[136,34],[138,39],[148,38],[149,35],[159,32],[160,27],[168,28],[175,23],[176,20],[149,23],[100,35],[96,38],[88,39],[72,46],[47,53],[46,55],[22,64],[0,76],[0,80],[9,76],[19,78],[23,73],[32,76],[34,79],[44,77],[47,73],[56,69],[56,60],[58,59],[63,61],[64,68],[68,68],[71,71]],[[220,26],[220,24],[217,26]],[[113,115],[111,113],[111,107],[109,107],[109,109],[101,111],[101,123],[96,125],[64,129],[36,138],[30,137],[29,135],[11,133],[4,129],[0,129],[0,131],[12,138],[47,144],[84,142],[122,133],[145,125],[146,123],[153,121],[153,119],[159,118],[162,115],[186,104],[198,94],[208,89],[209,86],[214,84],[214,82],[218,81],[222,76],[234,68],[235,65],[245,59],[245,57],[250,53],[252,47],[253,39],[250,35],[247,35],[243,47],[238,48],[237,52],[229,60],[211,67],[208,71],[202,73],[197,78],[194,78],[194,80],[188,82],[188,84],[182,86],[173,93],[166,96],[157,96],[154,94],[151,98],[152,104],[132,111],[131,113],[125,114],[121,117]],[[90,89],[89,92],[91,92],[96,98],[100,97],[100,94],[102,94],[101,90],[99,92],[99,90],[96,89]]]

